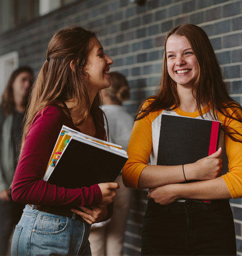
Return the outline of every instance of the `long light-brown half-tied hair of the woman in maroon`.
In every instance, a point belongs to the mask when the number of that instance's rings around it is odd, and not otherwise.
[[[68,100],[74,100],[76,103],[75,107],[69,109],[71,114],[78,113],[79,118],[75,125],[82,124],[90,111],[96,128],[105,136],[103,112],[99,108],[99,94],[90,106],[89,77],[85,72],[93,38],[96,38],[95,33],[81,26],[69,26],[53,35],[46,52],[46,61],[32,89],[22,144],[32,120],[41,109],[52,105],[58,106],[67,113],[67,110],[59,105]]]

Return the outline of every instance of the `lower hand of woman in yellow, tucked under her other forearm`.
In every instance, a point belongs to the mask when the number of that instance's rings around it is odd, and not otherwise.
[[[169,184],[164,186],[159,186],[155,189],[149,189],[147,195],[148,199],[153,199],[156,203],[159,204],[170,204],[178,199],[176,194],[176,189],[179,185],[182,184]]]

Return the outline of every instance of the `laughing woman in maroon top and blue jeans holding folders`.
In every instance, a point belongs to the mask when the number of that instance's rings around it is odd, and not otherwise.
[[[12,255],[91,255],[90,225],[110,217],[119,185],[66,189],[43,176],[62,125],[106,139],[99,91],[110,86],[112,63],[95,34],[80,26],[59,30],[50,40],[31,93],[13,178],[12,198],[26,207],[13,235]]]

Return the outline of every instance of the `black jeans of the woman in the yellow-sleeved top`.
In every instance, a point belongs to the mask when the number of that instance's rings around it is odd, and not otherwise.
[[[160,205],[148,200],[142,255],[236,255],[229,200],[186,200]]]

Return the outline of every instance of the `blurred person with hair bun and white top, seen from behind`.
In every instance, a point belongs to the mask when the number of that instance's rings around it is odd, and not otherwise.
[[[101,90],[101,107],[108,121],[109,140],[119,144],[124,150],[128,147],[133,128],[133,117],[122,106],[129,99],[128,81],[118,72],[110,73],[111,86]],[[114,200],[114,212],[110,220],[95,223],[91,227],[90,243],[92,255],[122,255],[125,223],[128,217],[131,189],[125,188],[122,173],[116,182],[120,185]]]

